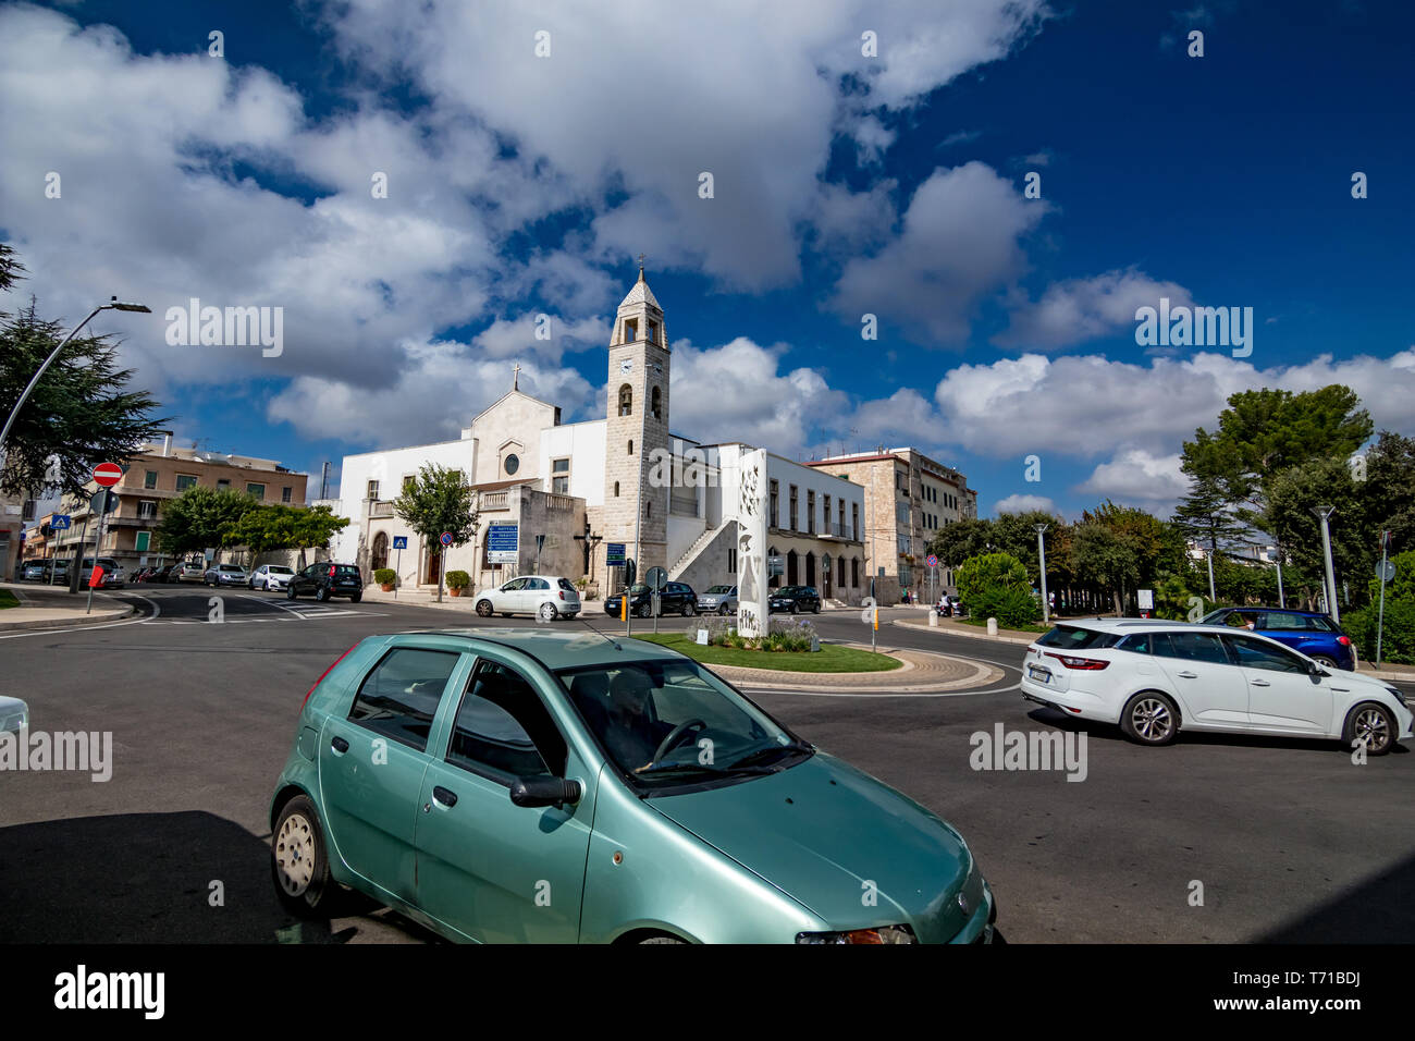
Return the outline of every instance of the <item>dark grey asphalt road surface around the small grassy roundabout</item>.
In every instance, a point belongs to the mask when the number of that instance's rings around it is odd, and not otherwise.
[[[331,929],[289,919],[269,877],[272,785],[306,690],[364,636],[528,620],[372,601],[290,605],[242,589],[222,593],[224,620],[212,623],[207,589],[123,595],[139,601],[142,619],[0,636],[0,694],[30,702],[33,729],[112,731],[115,742],[108,782],[0,775],[0,940],[429,939],[371,906]],[[587,622],[621,627],[593,609]],[[855,612],[818,623],[828,639],[869,637]],[[880,644],[990,661],[1006,677],[941,697],[753,697],[958,827],[1009,940],[1415,936],[1415,756],[1404,748],[1360,766],[1334,742],[1204,735],[1146,749],[1024,702],[1020,644],[894,625],[882,627]],[[972,769],[971,735],[999,724],[1084,735],[1085,779]]]

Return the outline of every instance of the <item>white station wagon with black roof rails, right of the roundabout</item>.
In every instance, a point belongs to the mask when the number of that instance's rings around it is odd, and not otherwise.
[[[1411,736],[1388,683],[1323,667],[1259,633],[1186,622],[1058,625],[1027,647],[1022,694],[1064,715],[1167,745],[1180,729],[1360,739],[1384,755]]]

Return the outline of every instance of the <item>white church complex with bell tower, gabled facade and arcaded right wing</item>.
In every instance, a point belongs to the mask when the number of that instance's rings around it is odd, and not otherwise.
[[[565,423],[558,405],[512,378],[456,440],[344,456],[331,506],[350,524],[334,558],[358,564],[366,579],[395,568],[403,589],[436,588],[440,574],[460,569],[471,591],[543,574],[584,579],[589,595],[603,598],[623,586],[624,557],[640,576],[661,567],[696,592],[736,585],[737,483],[758,446],[674,433],[671,374],[664,310],[640,268],[614,317],[604,418]],[[770,586],[812,585],[824,599],[859,603],[869,593],[865,489],[770,449],[766,460]],[[444,554],[393,511],[427,463],[457,470],[478,493],[474,541]],[[405,550],[393,548],[399,537]]]

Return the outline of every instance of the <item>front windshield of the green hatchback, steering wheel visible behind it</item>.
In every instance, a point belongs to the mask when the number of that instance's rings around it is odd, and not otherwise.
[[[761,773],[798,748],[788,731],[695,661],[627,661],[556,674],[600,746],[635,785]],[[754,765],[739,768],[746,756]]]

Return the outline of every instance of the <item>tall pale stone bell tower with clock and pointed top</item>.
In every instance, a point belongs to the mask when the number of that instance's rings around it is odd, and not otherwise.
[[[638,576],[666,568],[668,494],[672,467],[668,436],[668,333],[664,309],[644,280],[618,306],[610,334],[604,438],[604,541],[624,542]]]

